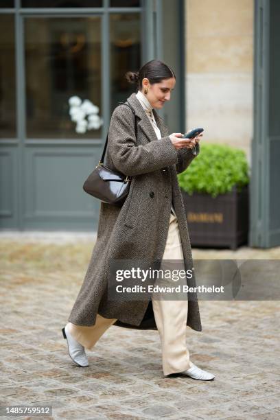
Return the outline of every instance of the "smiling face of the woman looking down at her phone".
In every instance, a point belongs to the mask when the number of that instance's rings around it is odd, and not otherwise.
[[[175,78],[165,79],[159,83],[150,84],[147,78],[142,81],[142,93],[148,99],[153,108],[161,109],[165,101],[170,101],[171,91],[173,91],[176,83]],[[144,90],[148,89],[145,94]]]

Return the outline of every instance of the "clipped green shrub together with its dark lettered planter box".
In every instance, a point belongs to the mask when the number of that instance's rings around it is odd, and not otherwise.
[[[178,174],[192,246],[236,249],[247,242],[248,172],[243,150],[204,144]]]

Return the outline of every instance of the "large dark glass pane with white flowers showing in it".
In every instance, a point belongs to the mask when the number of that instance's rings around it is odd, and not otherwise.
[[[25,19],[27,137],[101,137],[101,18]]]

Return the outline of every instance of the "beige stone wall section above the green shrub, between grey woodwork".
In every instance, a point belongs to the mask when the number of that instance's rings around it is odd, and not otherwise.
[[[187,128],[246,151],[253,135],[253,0],[185,0]]]

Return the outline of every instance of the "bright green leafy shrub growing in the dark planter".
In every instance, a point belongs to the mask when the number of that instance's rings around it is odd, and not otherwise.
[[[248,163],[243,150],[229,145],[200,145],[200,153],[178,174],[180,188],[188,194],[207,193],[212,197],[224,194],[237,187],[248,185]]]

